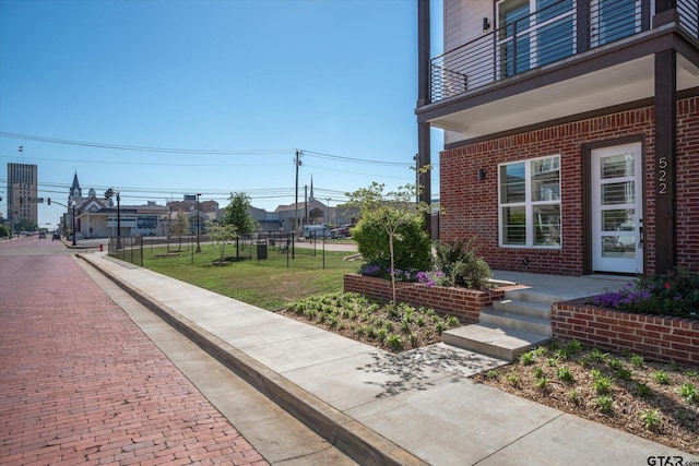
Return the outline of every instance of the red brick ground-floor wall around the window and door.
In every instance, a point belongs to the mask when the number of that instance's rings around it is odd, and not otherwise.
[[[699,271],[699,97],[677,105],[678,263]],[[559,275],[583,274],[583,146],[621,138],[645,143],[647,273],[654,273],[654,109],[644,107],[603,117],[470,144],[440,154],[440,240],[478,235],[479,253],[491,268]],[[560,154],[561,241],[558,250],[498,247],[498,174],[500,163]],[[486,171],[477,180],[478,168]],[[525,265],[523,260],[529,260]]]

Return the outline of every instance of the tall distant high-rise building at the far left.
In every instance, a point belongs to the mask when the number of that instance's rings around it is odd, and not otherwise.
[[[37,171],[36,165],[8,164],[8,220],[15,231],[23,220],[38,225]]]

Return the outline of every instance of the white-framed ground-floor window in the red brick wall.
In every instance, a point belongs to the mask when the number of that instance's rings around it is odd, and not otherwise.
[[[502,164],[500,246],[560,248],[560,156]]]

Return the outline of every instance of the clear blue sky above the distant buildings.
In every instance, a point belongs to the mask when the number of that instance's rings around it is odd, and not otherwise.
[[[78,172],[122,205],[246,192],[272,211],[301,150],[299,200],[312,177],[334,206],[414,182],[416,99],[416,0],[0,0],[0,191],[15,162],[61,203]],[[39,204],[39,226],[63,211]]]

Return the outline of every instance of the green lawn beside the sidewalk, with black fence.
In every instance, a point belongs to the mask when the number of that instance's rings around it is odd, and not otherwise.
[[[185,247],[185,244],[182,244]],[[358,261],[347,261],[348,252],[324,253],[322,247],[296,248],[295,258],[281,253],[279,248],[268,249],[268,259],[257,259],[257,249],[240,249],[239,255],[251,256],[228,265],[213,265],[220,259],[221,248],[202,244],[201,252],[192,254],[183,250],[177,255],[166,248],[146,247],[143,250],[143,266],[192,285],[238,299],[263,309],[279,309],[287,302],[321,292],[342,291],[343,275],[356,272]],[[226,246],[225,255],[235,255],[235,246]]]

